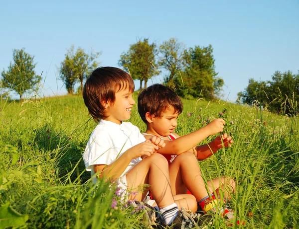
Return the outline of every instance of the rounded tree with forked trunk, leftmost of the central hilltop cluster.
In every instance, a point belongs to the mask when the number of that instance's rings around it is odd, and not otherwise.
[[[149,78],[158,73],[156,56],[155,43],[149,44],[149,39],[139,40],[136,44],[130,45],[128,52],[121,55],[119,66],[129,72],[133,79],[140,80],[140,89],[142,89],[143,81],[147,88]]]

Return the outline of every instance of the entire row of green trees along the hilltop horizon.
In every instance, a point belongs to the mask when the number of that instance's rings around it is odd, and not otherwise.
[[[67,49],[64,60],[58,67],[58,78],[63,81],[69,94],[81,93],[83,83],[90,73],[99,66],[101,52],[72,45]],[[27,90],[36,90],[41,76],[36,75],[34,56],[23,49],[13,50],[13,61],[8,70],[3,70],[0,80],[0,95],[5,97],[14,90],[22,99]],[[140,81],[140,88],[147,87],[148,80],[164,75],[163,83],[173,88],[183,98],[205,98],[212,100],[220,95],[224,81],[215,71],[215,59],[211,45],[185,48],[175,38],[158,45],[149,39],[140,39],[124,51],[118,61],[119,67]],[[79,86],[75,90],[75,86]],[[269,81],[249,79],[238,101],[253,105],[258,103],[270,111],[284,114],[298,114],[299,74],[276,72]]]

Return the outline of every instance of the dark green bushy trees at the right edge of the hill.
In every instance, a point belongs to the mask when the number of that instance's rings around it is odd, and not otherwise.
[[[299,72],[275,72],[272,80],[249,79],[248,86],[238,93],[238,99],[249,105],[260,105],[271,112],[288,115],[299,114]]]

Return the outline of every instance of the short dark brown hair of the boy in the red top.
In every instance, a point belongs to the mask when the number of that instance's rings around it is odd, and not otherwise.
[[[178,114],[182,113],[181,99],[173,90],[162,84],[153,84],[140,91],[138,95],[138,112],[145,123],[147,112],[162,117],[162,113],[171,106]]]

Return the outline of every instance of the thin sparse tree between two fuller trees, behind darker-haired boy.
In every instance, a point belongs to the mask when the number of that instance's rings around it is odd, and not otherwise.
[[[164,82],[170,87],[174,87],[173,77],[179,76],[179,72],[183,69],[183,52],[183,43],[178,42],[175,38],[164,41],[159,47],[160,57],[158,64],[169,72]]]

